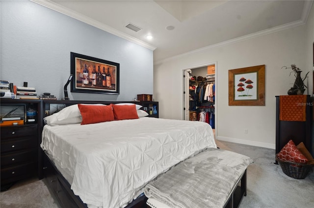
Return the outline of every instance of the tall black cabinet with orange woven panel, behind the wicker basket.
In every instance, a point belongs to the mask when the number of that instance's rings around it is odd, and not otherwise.
[[[294,95],[289,95],[294,96]],[[301,103],[294,103],[301,105]],[[276,154],[288,143],[290,139],[295,145],[303,142],[308,151],[313,155],[313,101],[307,96],[305,107],[305,121],[280,120],[280,96],[276,96]],[[277,161],[276,161],[277,164]]]

